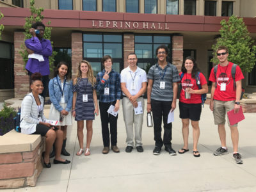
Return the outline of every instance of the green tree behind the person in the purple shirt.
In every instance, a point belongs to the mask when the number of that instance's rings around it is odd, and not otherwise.
[[[26,22],[24,25],[24,35],[25,35],[25,40],[31,38],[31,34],[29,33],[29,29],[31,28],[32,24],[37,21],[41,21],[44,19],[44,15],[41,13],[44,12],[44,8],[35,8],[35,0],[30,0],[30,12],[31,16],[26,17]],[[47,22],[47,25],[50,25],[51,21]],[[45,26],[45,31],[44,31],[44,38],[51,40],[51,34],[52,34],[52,28]],[[53,42],[51,42],[52,47],[53,47]],[[25,45],[21,45],[21,48],[23,49],[22,51],[19,51],[20,55],[23,58],[24,61],[24,67],[28,61],[28,52],[26,50]],[[49,66],[50,70],[53,70],[54,68],[54,56],[57,54],[56,51],[52,51],[52,56],[49,57]]]

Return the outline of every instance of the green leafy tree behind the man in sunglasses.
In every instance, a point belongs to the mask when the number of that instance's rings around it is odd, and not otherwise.
[[[212,45],[214,51],[212,63],[218,63],[216,50],[219,46],[228,47],[228,60],[239,65],[243,72],[251,72],[256,62],[256,46],[249,36],[250,33],[243,22],[243,18],[232,15],[228,21],[221,20],[220,38]]]

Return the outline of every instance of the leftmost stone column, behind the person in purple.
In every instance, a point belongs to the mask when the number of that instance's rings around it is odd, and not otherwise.
[[[19,51],[24,44],[23,32],[14,32],[14,97],[24,97],[29,92],[29,76]],[[24,45],[25,46],[25,45]]]

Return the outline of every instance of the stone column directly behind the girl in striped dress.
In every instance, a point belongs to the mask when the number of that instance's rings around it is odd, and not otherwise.
[[[72,78],[76,76],[79,62],[83,60],[83,34],[81,32],[72,32]]]

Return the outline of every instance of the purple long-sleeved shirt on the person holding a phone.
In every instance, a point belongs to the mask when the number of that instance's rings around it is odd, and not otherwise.
[[[48,58],[52,55],[52,45],[50,40],[42,38],[40,41],[35,36],[27,39],[25,45],[28,49],[31,49],[36,54],[41,54],[44,57],[44,61],[29,58],[26,64],[26,70],[31,73],[40,72],[42,76],[48,76],[50,74]]]

